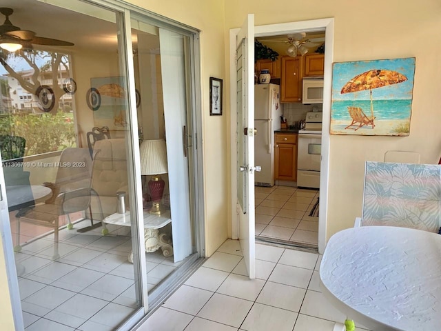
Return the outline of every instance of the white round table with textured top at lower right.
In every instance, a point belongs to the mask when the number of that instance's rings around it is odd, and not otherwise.
[[[320,285],[336,308],[371,330],[441,330],[441,235],[342,230],[327,243]]]

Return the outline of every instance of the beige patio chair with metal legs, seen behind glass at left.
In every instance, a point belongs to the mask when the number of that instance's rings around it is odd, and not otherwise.
[[[16,252],[21,251],[20,223],[26,222],[54,229],[53,259],[59,258],[59,218],[61,215],[67,215],[67,228],[72,229],[69,214],[90,208],[90,199],[94,195],[93,190],[90,189],[91,172],[92,159],[88,148],[66,148],[61,152],[55,183],[43,183],[52,190],[52,197],[43,203],[23,208],[16,214],[17,245],[14,247]]]

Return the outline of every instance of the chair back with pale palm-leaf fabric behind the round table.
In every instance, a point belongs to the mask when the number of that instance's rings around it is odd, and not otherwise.
[[[366,162],[362,217],[355,226],[389,225],[438,232],[441,165]]]

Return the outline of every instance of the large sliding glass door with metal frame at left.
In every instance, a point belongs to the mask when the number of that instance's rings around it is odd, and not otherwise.
[[[195,34],[94,2],[0,10],[23,29],[0,49],[0,231],[30,330],[125,330],[199,257]]]

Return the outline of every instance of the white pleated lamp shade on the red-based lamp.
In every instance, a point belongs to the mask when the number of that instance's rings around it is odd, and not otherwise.
[[[167,148],[164,139],[145,140],[139,150],[141,174],[167,173]]]

